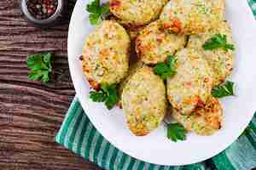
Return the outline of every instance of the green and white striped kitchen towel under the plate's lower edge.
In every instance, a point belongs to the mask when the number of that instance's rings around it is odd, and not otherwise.
[[[139,161],[116,149],[96,131],[77,98],[55,140],[86,160],[109,170],[250,170],[256,167],[256,115],[239,139],[212,159],[181,167],[166,167]]]

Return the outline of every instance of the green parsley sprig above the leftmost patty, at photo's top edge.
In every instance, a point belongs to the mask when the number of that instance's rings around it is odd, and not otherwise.
[[[100,0],[94,0],[87,5],[86,10],[90,13],[90,24],[98,25],[103,20],[102,15],[109,13],[109,3],[102,3],[101,5]]]

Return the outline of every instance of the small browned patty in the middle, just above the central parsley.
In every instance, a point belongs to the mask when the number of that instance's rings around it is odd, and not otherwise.
[[[185,42],[186,37],[164,31],[160,21],[154,21],[140,31],[136,40],[137,55],[145,64],[154,65],[166,61],[167,55],[183,48]]]

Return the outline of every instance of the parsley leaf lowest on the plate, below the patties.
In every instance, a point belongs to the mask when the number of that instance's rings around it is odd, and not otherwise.
[[[177,122],[167,124],[167,138],[174,142],[177,142],[177,140],[185,140],[187,133],[183,125]]]

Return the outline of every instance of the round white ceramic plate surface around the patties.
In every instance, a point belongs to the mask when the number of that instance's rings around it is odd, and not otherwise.
[[[68,61],[73,84],[79,100],[96,129],[108,141],[137,159],[160,165],[185,165],[204,161],[232,144],[247,127],[256,111],[256,21],[246,0],[226,0],[226,19],[233,28],[236,42],[236,97],[221,100],[224,107],[224,127],[212,136],[201,137],[189,133],[186,141],[174,143],[166,139],[161,126],[145,137],[136,137],[125,126],[122,110],[111,111],[104,105],[91,102],[89,84],[85,80],[79,55],[90,26],[85,7],[87,0],[79,0],[73,11],[68,32]]]

